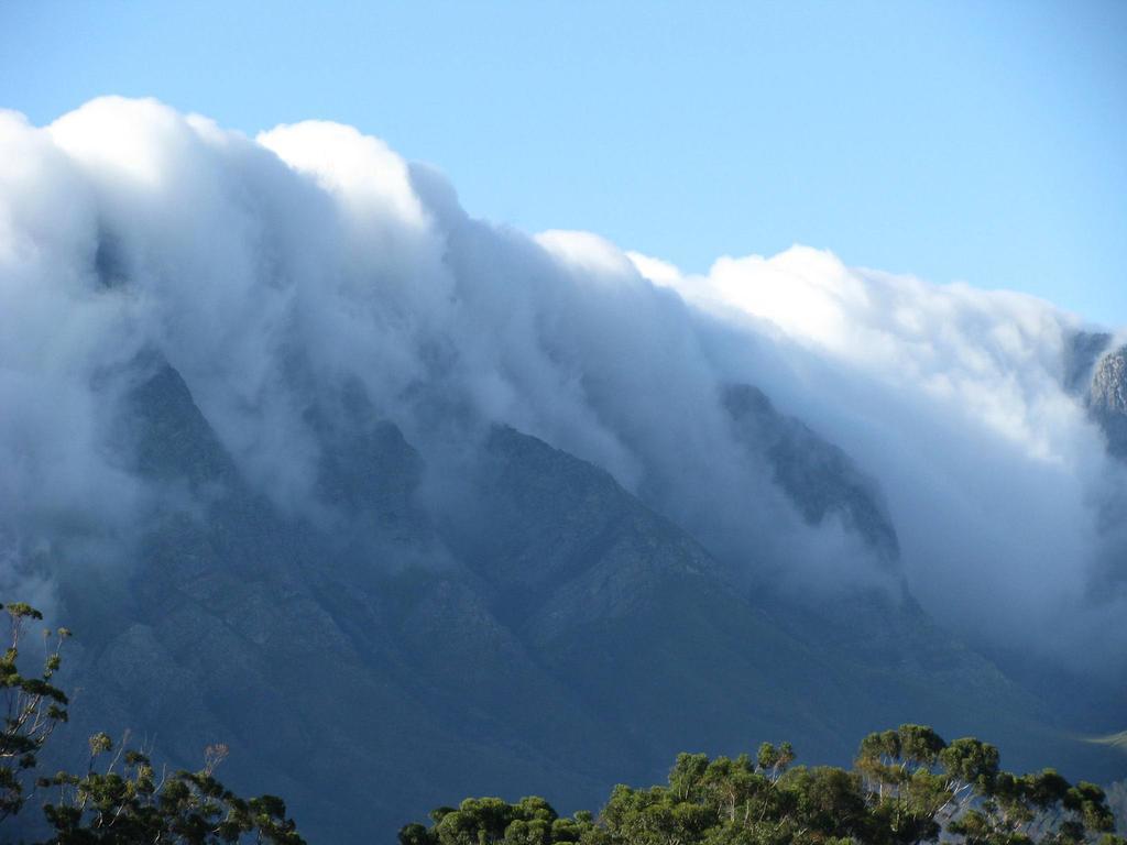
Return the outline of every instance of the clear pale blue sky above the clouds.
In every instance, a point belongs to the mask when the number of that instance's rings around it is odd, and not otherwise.
[[[0,2],[0,107],[350,123],[478,216],[1127,324],[1127,2]]]

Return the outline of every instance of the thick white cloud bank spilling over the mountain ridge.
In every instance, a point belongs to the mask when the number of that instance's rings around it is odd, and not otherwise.
[[[1124,473],[1062,386],[1080,326],[1049,303],[806,247],[691,275],[589,233],[530,237],[329,123],[248,139],[103,98],[46,127],[0,113],[0,587],[60,544],[97,559],[143,513],[114,415],[147,350],[290,509],[316,496],[308,410],[360,385],[432,487],[504,422],[761,581],[886,579],[736,442],[718,397],[751,383],[879,482],[938,617],[1124,670],[1127,544],[1101,524]]]

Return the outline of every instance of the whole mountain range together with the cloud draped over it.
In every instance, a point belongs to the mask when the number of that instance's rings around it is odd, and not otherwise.
[[[749,724],[1122,775],[1071,739],[1127,692],[1112,329],[806,247],[532,237],[337,124],[104,98],[0,113],[0,589],[112,621],[91,721],[241,738],[314,826],[326,696],[367,713],[338,759],[429,760],[384,820]],[[1000,655],[1102,691],[1091,727]]]

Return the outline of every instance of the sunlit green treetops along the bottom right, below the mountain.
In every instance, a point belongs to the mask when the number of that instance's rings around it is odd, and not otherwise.
[[[597,818],[542,799],[468,799],[415,822],[400,845],[1127,845],[1102,790],[1053,770],[1014,775],[997,749],[922,724],[870,733],[851,771],[791,767],[783,742],[748,755],[680,754],[662,786],[620,784]]]

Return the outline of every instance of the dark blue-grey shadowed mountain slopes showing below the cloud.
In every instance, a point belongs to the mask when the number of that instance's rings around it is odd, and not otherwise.
[[[755,389],[725,403],[810,522],[836,515],[895,561],[844,453]],[[749,594],[606,472],[539,439],[489,429],[450,479],[464,500],[432,513],[423,457],[364,401],[308,421],[317,521],[251,488],[174,368],[139,365],[123,442],[157,504],[127,578],[62,585],[82,693],[56,749],[131,729],[195,767],[227,742],[224,780],[285,795],[311,840],[332,843],[389,840],[470,793],[592,806],[685,749],[790,739],[806,760],[848,763],[860,736],[903,721],[987,736],[1018,767],[1117,763],[911,597]]]

